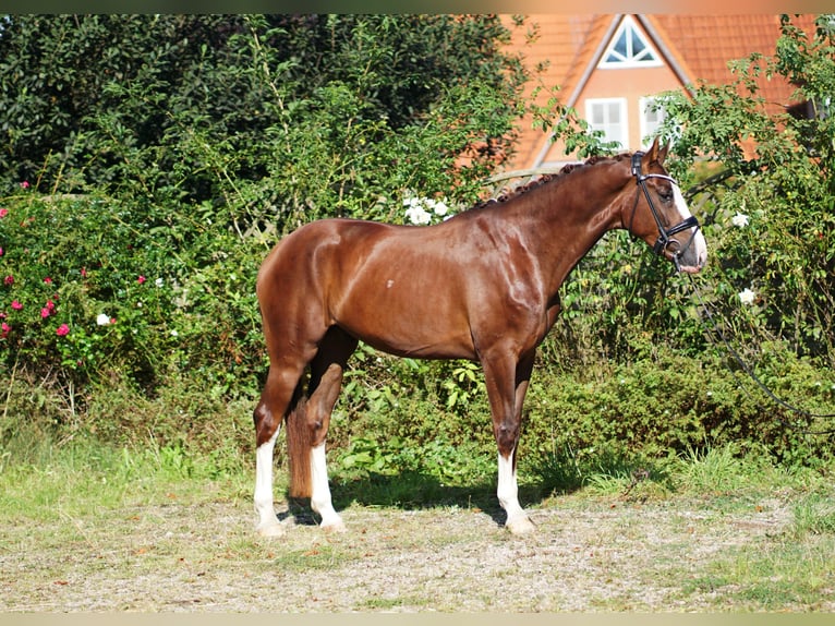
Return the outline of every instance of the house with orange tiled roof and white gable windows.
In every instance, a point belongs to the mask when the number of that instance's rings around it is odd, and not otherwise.
[[[505,19],[510,26],[512,17]],[[813,15],[794,22],[807,32],[814,27]],[[780,35],[778,15],[757,14],[542,14],[529,15],[527,24],[532,32],[511,28],[511,49],[522,53],[530,69],[541,69],[543,85],[559,86],[562,104],[630,152],[646,147],[661,122],[663,111],[651,107],[654,96],[699,81],[729,83],[728,61],[752,52],[773,55]],[[792,104],[795,87],[785,81],[763,77],[760,87],[771,106]],[[543,93],[538,104],[547,97]],[[505,169],[572,160],[565,146],[525,120],[517,154]]]

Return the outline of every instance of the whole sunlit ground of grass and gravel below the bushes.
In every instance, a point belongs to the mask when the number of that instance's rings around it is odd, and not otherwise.
[[[538,531],[521,539],[499,528],[493,477],[336,480],[349,533],[301,523],[267,541],[252,459],[7,448],[0,610],[832,611],[831,472],[733,452],[574,465],[570,493],[522,490]]]

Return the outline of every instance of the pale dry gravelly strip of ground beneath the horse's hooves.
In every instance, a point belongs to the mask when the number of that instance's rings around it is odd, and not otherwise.
[[[566,497],[532,509],[537,530],[522,538],[498,511],[460,506],[352,505],[349,531],[328,534],[283,506],[287,533],[270,540],[243,498],[0,529],[0,611],[739,610],[733,567],[790,522],[777,498],[724,510]]]

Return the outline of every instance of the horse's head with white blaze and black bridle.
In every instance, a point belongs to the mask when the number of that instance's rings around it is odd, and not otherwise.
[[[694,274],[707,263],[707,244],[681,190],[664,169],[667,151],[656,139],[649,152],[632,155],[634,200],[624,206],[624,225],[679,272]]]

